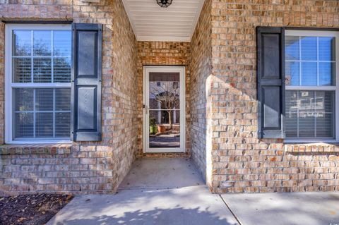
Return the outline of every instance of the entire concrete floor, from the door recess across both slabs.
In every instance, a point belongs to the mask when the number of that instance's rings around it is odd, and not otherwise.
[[[338,202],[339,193],[215,195],[191,159],[138,159],[116,195],[76,196],[48,224],[329,225]]]

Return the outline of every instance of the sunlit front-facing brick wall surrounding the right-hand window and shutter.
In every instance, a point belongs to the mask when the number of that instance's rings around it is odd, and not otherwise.
[[[258,140],[256,26],[339,28],[339,1],[213,0],[214,192],[339,190],[339,149]]]

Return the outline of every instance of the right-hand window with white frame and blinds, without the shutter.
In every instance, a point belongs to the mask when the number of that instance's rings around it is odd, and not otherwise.
[[[338,139],[338,42],[338,32],[285,31],[286,138]]]

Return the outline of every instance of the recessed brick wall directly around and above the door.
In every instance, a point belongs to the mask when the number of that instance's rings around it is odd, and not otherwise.
[[[189,157],[190,155],[190,79],[189,42],[138,42],[138,157]],[[185,66],[186,68],[186,152],[143,153],[143,66]]]

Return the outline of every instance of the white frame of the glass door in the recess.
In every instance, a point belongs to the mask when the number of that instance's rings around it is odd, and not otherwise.
[[[179,73],[179,86],[180,86],[180,147],[152,147],[149,146],[149,74],[150,72],[170,72]],[[143,152],[185,152],[186,151],[186,78],[184,66],[143,66]]]

